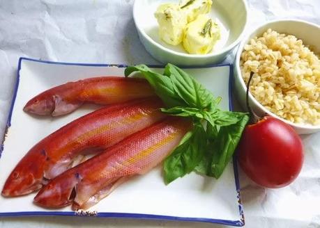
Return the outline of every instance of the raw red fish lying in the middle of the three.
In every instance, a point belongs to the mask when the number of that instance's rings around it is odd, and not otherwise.
[[[101,108],[70,122],[29,150],[6,180],[2,195],[26,195],[38,190],[45,179],[70,168],[79,154],[102,151],[165,118],[161,107],[158,98],[135,100]]]

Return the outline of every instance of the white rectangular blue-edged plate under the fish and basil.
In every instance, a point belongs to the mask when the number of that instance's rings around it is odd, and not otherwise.
[[[123,65],[86,65],[51,63],[20,58],[15,97],[8,119],[0,159],[0,188],[18,161],[39,140],[97,108],[86,105],[63,117],[34,117],[22,111],[26,101],[53,86],[92,76],[123,76]],[[153,66],[162,71],[162,67]],[[222,97],[220,108],[231,108],[231,65],[188,68],[186,72]],[[1,153],[0,148],[0,153]],[[102,199],[90,211],[96,216],[119,218],[153,218],[216,222],[242,226],[243,210],[238,190],[238,174],[229,163],[222,177],[216,180],[191,173],[165,186],[161,165],[148,174],[132,178]],[[0,215],[77,215],[70,207],[56,211],[33,204],[35,194],[23,197],[0,196]]]

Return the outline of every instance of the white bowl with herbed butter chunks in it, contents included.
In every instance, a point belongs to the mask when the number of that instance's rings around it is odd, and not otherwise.
[[[139,39],[156,60],[181,66],[221,63],[243,38],[245,0],[139,0]]]

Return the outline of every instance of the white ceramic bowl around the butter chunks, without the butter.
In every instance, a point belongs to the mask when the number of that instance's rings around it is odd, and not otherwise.
[[[213,51],[205,55],[188,54],[182,47],[169,45],[160,39],[155,10],[161,3],[178,0],[136,0],[133,5],[133,18],[139,38],[146,50],[162,63],[181,66],[198,66],[220,63],[243,38],[247,24],[247,3],[245,0],[214,0],[210,17],[216,19],[221,28],[221,39]]]

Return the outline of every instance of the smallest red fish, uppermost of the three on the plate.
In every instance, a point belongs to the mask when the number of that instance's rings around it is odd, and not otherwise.
[[[66,115],[84,102],[115,104],[132,99],[155,96],[144,79],[102,76],[68,82],[33,97],[24,111],[36,115]]]

